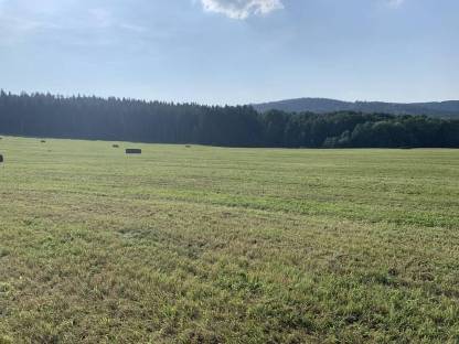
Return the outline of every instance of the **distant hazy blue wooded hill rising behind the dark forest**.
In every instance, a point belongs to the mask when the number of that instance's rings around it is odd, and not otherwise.
[[[254,104],[259,112],[276,109],[288,112],[310,111],[327,114],[333,111],[382,112],[389,115],[427,115],[433,117],[459,118],[459,100],[430,103],[383,103],[383,101],[341,101],[327,98],[298,98],[264,104]]]

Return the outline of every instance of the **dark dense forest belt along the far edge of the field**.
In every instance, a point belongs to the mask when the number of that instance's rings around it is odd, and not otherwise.
[[[0,133],[227,147],[453,147],[459,120],[341,111],[259,114],[126,98],[0,92]]]

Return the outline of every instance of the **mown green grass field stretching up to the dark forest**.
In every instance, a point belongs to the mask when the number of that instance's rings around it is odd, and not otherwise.
[[[0,343],[459,342],[457,150],[0,153]]]

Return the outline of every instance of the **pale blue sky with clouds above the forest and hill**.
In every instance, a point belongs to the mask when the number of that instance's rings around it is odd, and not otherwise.
[[[459,99],[459,1],[0,0],[0,88],[218,105]]]

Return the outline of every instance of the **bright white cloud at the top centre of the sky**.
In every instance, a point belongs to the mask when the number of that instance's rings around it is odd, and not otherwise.
[[[281,0],[201,0],[207,12],[225,14],[232,19],[246,19],[253,14],[267,14],[284,9]]]

